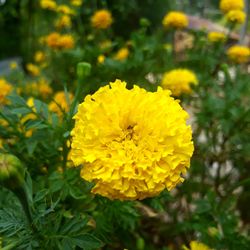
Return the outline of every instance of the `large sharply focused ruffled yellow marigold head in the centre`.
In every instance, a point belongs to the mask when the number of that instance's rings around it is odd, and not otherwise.
[[[135,200],[171,190],[193,154],[188,114],[170,91],[151,93],[116,80],[86,96],[72,130],[71,159],[93,193]]]

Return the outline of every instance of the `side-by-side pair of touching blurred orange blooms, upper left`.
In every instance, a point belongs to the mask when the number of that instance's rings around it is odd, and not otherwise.
[[[53,32],[46,37],[46,44],[53,49],[72,49],[75,41],[71,35],[61,35]]]

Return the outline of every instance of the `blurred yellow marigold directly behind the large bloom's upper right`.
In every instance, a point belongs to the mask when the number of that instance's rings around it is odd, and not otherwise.
[[[174,96],[191,93],[191,85],[197,85],[196,75],[188,69],[174,69],[166,72],[162,78],[163,88],[170,89]]]

